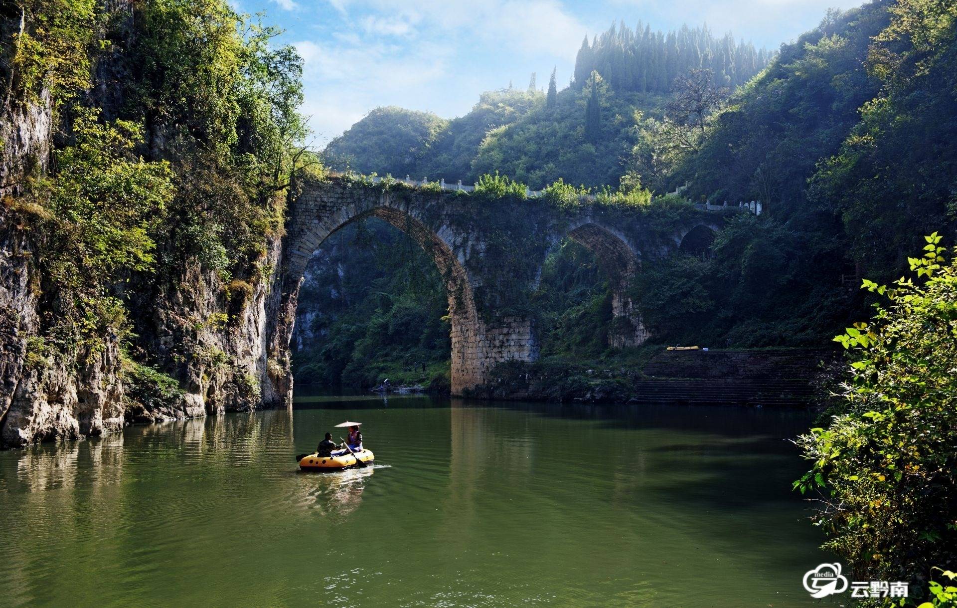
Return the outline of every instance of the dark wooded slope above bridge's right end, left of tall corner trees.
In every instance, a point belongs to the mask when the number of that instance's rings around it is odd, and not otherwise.
[[[818,28],[783,45],[768,69],[732,96],[668,184],[690,182],[689,195],[719,204],[761,200],[781,220],[811,214],[808,178],[878,91],[862,67],[887,23],[882,3],[829,12]]]

